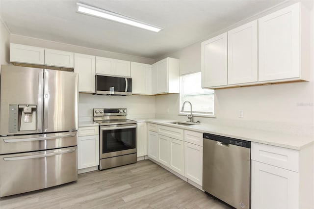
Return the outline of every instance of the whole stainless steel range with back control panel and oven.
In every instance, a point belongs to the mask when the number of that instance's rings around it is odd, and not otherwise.
[[[127,119],[127,108],[94,108],[94,121],[100,124],[99,170],[135,163],[136,121]]]

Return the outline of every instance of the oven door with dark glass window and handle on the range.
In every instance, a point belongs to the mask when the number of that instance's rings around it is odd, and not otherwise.
[[[100,127],[100,158],[136,153],[137,125]]]

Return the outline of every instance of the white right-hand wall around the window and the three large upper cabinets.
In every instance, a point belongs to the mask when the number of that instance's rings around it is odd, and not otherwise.
[[[283,6],[286,5],[281,5],[281,7]],[[208,123],[226,123],[233,126],[245,126],[313,136],[313,3],[308,4],[307,6],[312,8],[312,38],[311,43],[309,43],[312,46],[311,81],[215,90],[214,111],[216,118],[196,118],[196,120]],[[273,10],[276,10],[276,8],[271,11]],[[267,11],[266,13],[269,12],[270,11]],[[260,14],[259,16],[263,16],[264,14]],[[252,17],[235,26],[245,24],[257,17]],[[225,32],[235,26],[226,28],[221,32]],[[209,36],[209,38],[214,35]],[[184,48],[183,50],[166,54],[159,59],[168,56],[180,59],[181,75],[201,71],[201,41]],[[157,117],[171,117],[187,120],[186,116],[178,116],[179,108],[179,95],[171,94],[156,97]],[[238,118],[238,110],[244,111],[243,118]]]

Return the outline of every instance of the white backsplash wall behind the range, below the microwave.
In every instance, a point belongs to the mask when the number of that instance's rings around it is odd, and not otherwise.
[[[78,121],[90,121],[93,108],[127,107],[128,118],[154,118],[155,96],[107,96],[79,93]]]

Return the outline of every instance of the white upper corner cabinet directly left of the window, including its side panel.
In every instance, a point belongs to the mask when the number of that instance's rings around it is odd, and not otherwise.
[[[179,59],[167,57],[152,65],[154,94],[180,93]]]

